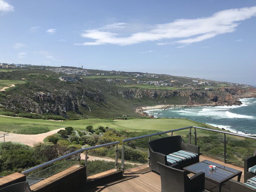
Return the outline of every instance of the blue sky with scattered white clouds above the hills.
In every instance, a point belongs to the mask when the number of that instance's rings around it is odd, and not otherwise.
[[[256,1],[0,0],[0,62],[256,84]]]

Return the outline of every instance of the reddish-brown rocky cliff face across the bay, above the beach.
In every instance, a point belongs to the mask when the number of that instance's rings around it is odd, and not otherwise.
[[[125,99],[164,98],[173,100],[174,105],[240,105],[236,97],[227,91],[195,91],[195,90],[146,90],[127,89],[118,92]],[[239,95],[239,94],[238,94]]]

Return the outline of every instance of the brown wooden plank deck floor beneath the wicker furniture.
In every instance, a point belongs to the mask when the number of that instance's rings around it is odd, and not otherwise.
[[[243,168],[234,166],[232,164],[224,164],[221,161],[212,159],[207,156],[200,156],[200,161],[209,160],[214,163],[222,164],[239,171],[244,171]],[[99,176],[102,176],[101,173]],[[191,174],[192,176],[193,174]],[[189,175],[190,176],[190,175]],[[95,178],[95,177],[94,177]],[[237,180],[237,177],[234,178]],[[242,174],[241,182],[244,182],[244,174]],[[108,183],[104,186],[98,186],[93,188],[87,188],[84,191],[90,192],[160,192],[161,191],[161,180],[160,175],[155,172],[151,172],[147,165],[140,165],[138,167],[125,171],[124,178],[112,183]],[[221,191],[228,191],[225,188]]]

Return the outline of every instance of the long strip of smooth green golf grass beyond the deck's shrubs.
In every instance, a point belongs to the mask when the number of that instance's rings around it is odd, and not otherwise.
[[[0,116],[0,131],[15,132],[22,134],[38,134],[62,127],[72,126],[75,129],[85,130],[85,127],[92,125],[97,128],[99,125],[108,126],[117,130],[143,131],[159,130],[167,131],[188,126],[203,126],[212,128],[210,125],[197,123],[188,119],[180,118],[159,118],[159,119],[128,119],[113,121],[108,119],[81,119],[72,121],[47,121],[43,119],[28,119]],[[188,131],[186,131],[188,133]]]

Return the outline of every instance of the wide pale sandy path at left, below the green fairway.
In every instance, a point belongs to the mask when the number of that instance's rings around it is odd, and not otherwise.
[[[24,135],[24,134],[17,134],[17,133],[9,133],[9,135],[5,136],[5,141],[14,141],[14,142],[20,142],[29,146],[33,147],[34,143],[43,142],[44,138],[52,135],[54,133],[57,133],[61,129],[56,129],[53,131],[49,131],[46,133],[36,134],[36,135]],[[4,134],[4,132],[0,132],[0,135]],[[4,138],[1,138],[1,141],[4,141]]]

